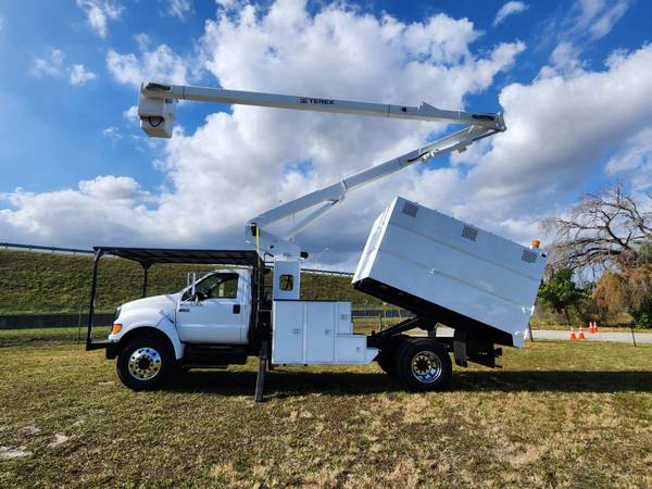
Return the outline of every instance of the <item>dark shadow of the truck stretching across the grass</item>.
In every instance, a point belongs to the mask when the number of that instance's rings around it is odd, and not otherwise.
[[[173,380],[166,390],[222,396],[252,396],[253,372],[197,371]],[[272,372],[265,379],[267,397],[322,393],[366,396],[402,391],[402,386],[381,373]],[[450,391],[460,392],[652,392],[652,372],[514,371],[456,372]]]

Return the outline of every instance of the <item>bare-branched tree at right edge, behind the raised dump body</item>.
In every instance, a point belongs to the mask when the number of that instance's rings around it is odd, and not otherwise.
[[[554,234],[552,262],[555,267],[600,273],[629,268],[641,254],[652,254],[652,213],[642,211],[652,195],[637,200],[616,186],[601,195],[589,195],[568,216],[550,217],[543,228]]]

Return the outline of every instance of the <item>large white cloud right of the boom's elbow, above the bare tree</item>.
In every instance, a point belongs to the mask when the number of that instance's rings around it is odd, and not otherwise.
[[[651,84],[652,46],[644,46],[610,57],[604,71],[552,71],[505,87],[500,102],[507,131],[451,185],[450,191],[464,188],[468,196],[456,211],[488,223],[554,213],[601,171],[605,152],[647,126]]]

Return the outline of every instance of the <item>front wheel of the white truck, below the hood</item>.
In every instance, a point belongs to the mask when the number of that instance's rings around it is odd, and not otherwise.
[[[117,376],[129,389],[155,389],[168,379],[175,363],[170,341],[154,335],[137,336],[117,356]]]

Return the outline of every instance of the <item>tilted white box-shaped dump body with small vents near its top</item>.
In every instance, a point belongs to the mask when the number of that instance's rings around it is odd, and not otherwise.
[[[408,309],[430,306],[451,327],[469,323],[489,337],[511,336],[521,347],[544,266],[537,248],[399,197],[374,223],[353,283]]]

